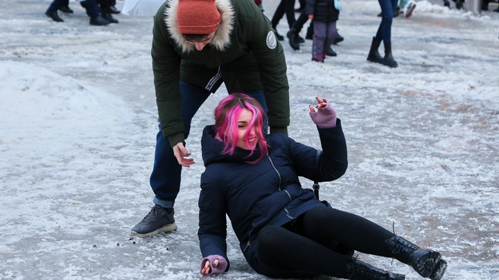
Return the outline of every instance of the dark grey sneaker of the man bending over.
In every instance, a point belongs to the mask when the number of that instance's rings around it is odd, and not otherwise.
[[[175,214],[173,208],[163,208],[156,204],[151,208],[149,214],[132,228],[132,234],[148,237],[161,232],[173,232],[177,230],[173,214]]]

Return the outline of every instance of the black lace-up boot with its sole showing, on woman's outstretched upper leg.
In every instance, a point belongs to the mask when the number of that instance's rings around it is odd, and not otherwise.
[[[393,257],[410,265],[422,277],[439,280],[444,276],[447,263],[439,252],[423,250],[400,236],[393,236],[385,241]]]

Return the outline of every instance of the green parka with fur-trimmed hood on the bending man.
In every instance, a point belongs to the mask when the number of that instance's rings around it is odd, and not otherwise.
[[[287,134],[290,123],[286,58],[265,15],[253,0],[215,0],[222,15],[211,43],[195,50],[177,28],[179,0],[166,1],[154,18],[152,71],[161,131],[174,146],[184,141],[180,80],[215,93],[263,89],[270,132]]]

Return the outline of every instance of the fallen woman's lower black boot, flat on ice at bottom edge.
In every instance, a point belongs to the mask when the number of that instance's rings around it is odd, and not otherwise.
[[[396,274],[375,268],[369,263],[352,259],[347,263],[347,275],[344,278],[356,280],[404,280],[404,274]]]

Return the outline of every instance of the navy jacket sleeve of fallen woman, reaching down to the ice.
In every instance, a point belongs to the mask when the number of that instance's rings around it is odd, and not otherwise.
[[[207,169],[208,170],[208,169]],[[203,257],[218,254],[227,260],[227,270],[230,262],[227,258],[227,219],[225,196],[222,194],[220,178],[212,176],[213,172],[205,171],[201,176],[201,193],[199,199],[199,230],[200,250]],[[218,176],[220,177],[220,176]]]

